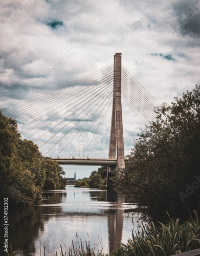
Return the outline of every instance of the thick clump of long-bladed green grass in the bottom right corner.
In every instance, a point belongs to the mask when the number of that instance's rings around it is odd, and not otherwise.
[[[113,255],[123,256],[160,256],[172,255],[200,247],[199,219],[195,212],[196,219],[190,215],[190,220],[183,224],[171,220],[167,225],[162,223],[155,228],[154,223],[139,226],[132,239],[123,244]],[[120,253],[119,253],[120,252]]]

